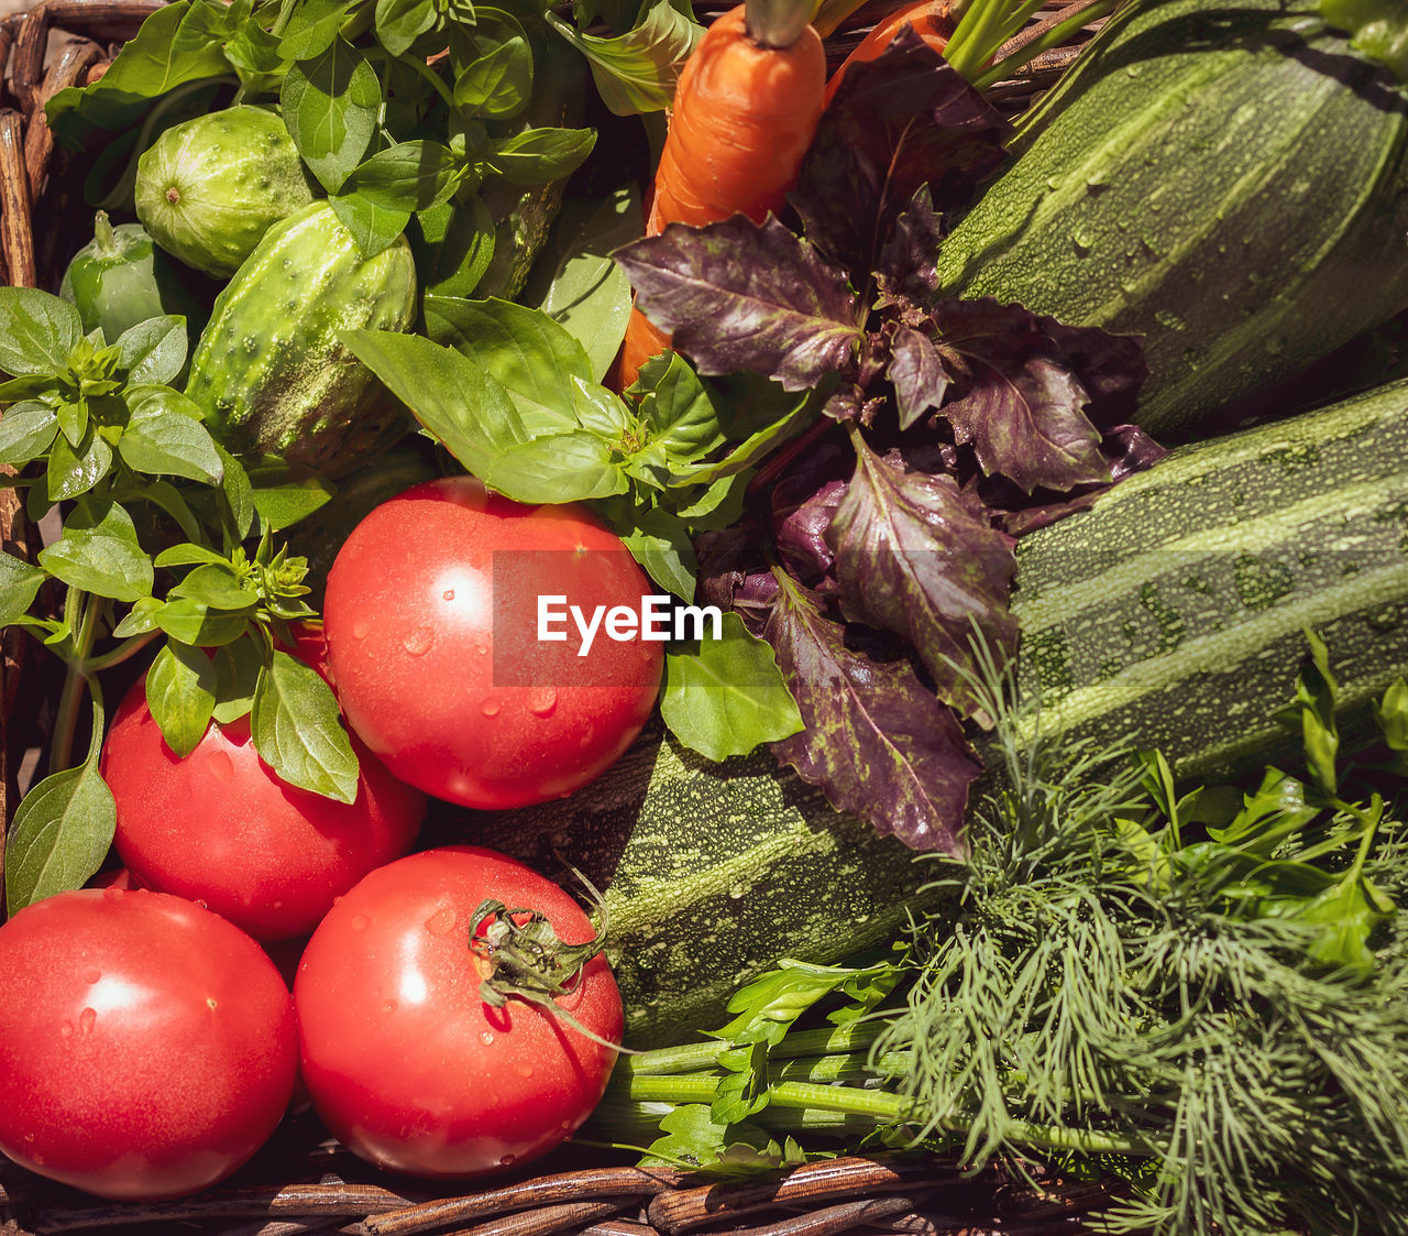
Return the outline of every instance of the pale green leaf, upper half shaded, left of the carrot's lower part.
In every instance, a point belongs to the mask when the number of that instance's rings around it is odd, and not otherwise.
[[[536,304],[582,344],[594,382],[611,368],[631,317],[631,280],[611,251],[641,235],[643,225],[634,186],[601,200],[569,202],[524,290],[525,304]]]

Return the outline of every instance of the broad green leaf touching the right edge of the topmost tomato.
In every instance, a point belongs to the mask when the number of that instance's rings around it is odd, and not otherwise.
[[[724,614],[722,638],[666,654],[660,716],[686,747],[715,762],[803,727],[773,650],[732,612]]]

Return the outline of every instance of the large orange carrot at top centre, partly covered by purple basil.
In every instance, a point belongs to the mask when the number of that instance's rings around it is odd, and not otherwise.
[[[704,32],[674,87],[645,234],[781,210],[821,118],[826,62],[812,0],[746,0]],[[631,311],[614,385],[670,337]]]

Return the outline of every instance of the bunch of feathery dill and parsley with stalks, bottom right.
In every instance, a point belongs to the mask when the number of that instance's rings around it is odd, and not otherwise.
[[[1346,758],[1311,637],[1284,713],[1305,770],[1195,788],[1156,754],[1019,743],[983,693],[1001,772],[969,863],[928,860],[950,895],[891,954],[784,963],[711,1042],[625,1060],[603,1135],[653,1123],[649,1157],[719,1173],[838,1137],[1056,1157],[1125,1181],[1114,1232],[1404,1230],[1408,684]]]

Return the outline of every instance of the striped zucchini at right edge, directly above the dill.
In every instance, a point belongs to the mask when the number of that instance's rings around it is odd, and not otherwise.
[[[1346,723],[1408,674],[1408,382],[1181,447],[1018,541],[1018,674],[1043,726],[1183,775],[1294,750],[1304,630]]]

